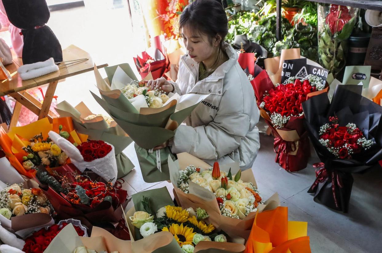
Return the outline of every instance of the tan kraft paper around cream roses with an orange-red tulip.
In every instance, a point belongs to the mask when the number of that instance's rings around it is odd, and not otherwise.
[[[236,235],[242,238],[248,238],[256,213],[250,213],[242,220],[222,216],[220,214],[220,209],[216,201],[215,194],[191,181],[189,181],[189,193],[182,192],[177,185],[179,170],[185,169],[189,165],[194,165],[201,168],[201,170],[204,170],[210,168],[210,165],[188,153],[177,154],[177,157],[177,161],[172,161],[171,158],[168,158],[168,168],[170,170],[170,180],[173,184],[176,196],[180,201],[179,204],[183,208],[201,207],[207,211],[210,216],[210,221],[217,227],[217,229],[227,232],[230,236]],[[231,163],[220,165],[221,171],[228,172],[230,168],[232,175],[235,175],[239,170],[239,164]],[[242,171],[241,177],[244,178],[246,182],[251,182],[257,188],[256,180],[251,169]],[[265,210],[274,209],[277,206],[280,206],[280,200],[278,198],[278,194],[275,193],[272,197],[265,201],[264,204],[259,204],[257,206],[257,210],[258,212],[262,212]]]

